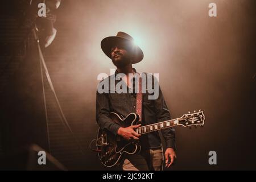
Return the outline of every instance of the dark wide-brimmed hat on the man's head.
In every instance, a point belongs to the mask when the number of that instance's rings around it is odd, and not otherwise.
[[[139,46],[134,44],[133,38],[125,32],[118,32],[117,36],[109,36],[101,41],[101,49],[111,59],[111,48],[122,43],[126,49],[133,53],[132,64],[139,63],[143,59],[143,52]]]

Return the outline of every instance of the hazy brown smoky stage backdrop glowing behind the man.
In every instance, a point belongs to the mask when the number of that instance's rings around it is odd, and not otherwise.
[[[217,4],[217,17],[208,16],[210,2]],[[114,68],[100,42],[118,31],[134,36],[144,52],[137,71],[159,73],[173,118],[204,110],[203,128],[176,127],[177,162],[171,169],[256,169],[255,1],[61,1],[57,35],[44,58],[83,152],[61,121],[44,75],[46,123],[38,49],[24,15],[28,3],[1,1],[3,169],[26,166],[21,154],[31,143],[68,169],[108,169],[89,143],[98,129],[97,75]],[[210,166],[212,150],[217,165]]]

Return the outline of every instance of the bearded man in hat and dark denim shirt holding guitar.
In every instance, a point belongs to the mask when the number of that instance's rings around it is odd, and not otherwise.
[[[143,59],[141,48],[133,44],[133,38],[125,32],[118,32],[117,36],[110,36],[101,42],[102,51],[112,59],[117,67],[115,75],[124,73],[122,77],[127,89],[134,88],[133,81],[129,80],[129,73],[136,70],[132,64]],[[109,79],[110,77],[106,78]],[[111,89],[110,89],[111,91]],[[113,91],[113,90],[112,90]],[[141,120],[142,125],[150,125],[156,122],[170,120],[170,111],[166,106],[163,94],[159,87],[159,95],[155,100],[148,99],[148,93],[143,93]],[[109,130],[114,135],[119,135],[126,140],[140,140],[142,151],[139,154],[126,155],[123,161],[123,170],[162,170],[163,150],[157,131],[139,135],[134,131],[140,125],[121,127],[110,119],[110,112],[115,112],[126,117],[129,113],[136,113],[138,95],[133,93],[117,93],[116,90],[109,93],[98,93],[96,101],[96,120],[101,129]],[[161,130],[166,142],[166,167],[170,167],[176,158],[175,154],[175,130],[172,128]]]

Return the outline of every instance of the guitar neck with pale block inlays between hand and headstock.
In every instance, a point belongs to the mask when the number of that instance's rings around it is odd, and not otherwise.
[[[171,119],[171,120],[168,120],[168,121],[154,123],[152,125],[141,126],[141,127],[138,127],[137,129],[135,129],[135,132],[142,135],[142,134],[150,133],[150,132],[153,132],[153,131],[167,129],[168,127],[178,125],[179,124],[179,119],[180,118]]]

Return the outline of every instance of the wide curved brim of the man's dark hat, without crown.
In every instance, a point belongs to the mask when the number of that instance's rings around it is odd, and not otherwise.
[[[131,51],[134,56],[134,59],[131,62],[132,64],[139,63],[143,59],[144,55],[143,55],[142,49],[139,46],[133,44],[131,40],[121,38],[119,36],[109,36],[103,39],[101,41],[101,49],[105,53],[105,55],[111,59],[111,48],[115,46],[117,43],[121,43],[121,42],[124,45],[127,45],[127,48],[128,47],[133,48],[133,51]]]

